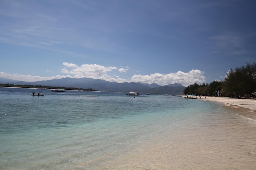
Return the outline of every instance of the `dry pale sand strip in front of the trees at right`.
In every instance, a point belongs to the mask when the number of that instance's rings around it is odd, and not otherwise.
[[[200,99],[200,97],[198,99]],[[234,99],[229,97],[211,97],[211,96],[207,96],[206,98],[204,98],[204,96],[202,96],[201,100],[210,101],[210,102],[221,102],[226,106],[233,106],[236,108],[248,109],[248,111],[244,112],[242,115],[256,121],[256,100],[255,99]]]

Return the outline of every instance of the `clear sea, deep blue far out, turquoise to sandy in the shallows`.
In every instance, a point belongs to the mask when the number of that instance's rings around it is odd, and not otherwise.
[[[245,112],[204,97],[0,87],[0,169],[255,170]]]

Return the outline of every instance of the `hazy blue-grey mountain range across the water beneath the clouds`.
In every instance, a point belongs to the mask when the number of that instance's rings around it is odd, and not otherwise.
[[[7,79],[0,77],[0,84],[15,84],[15,85],[41,85],[41,86],[55,86],[55,87],[74,87],[74,88],[92,88],[95,91],[109,91],[109,92],[124,92],[130,91],[147,93],[147,94],[183,94],[184,86],[181,84],[169,84],[166,86],[160,86],[152,83],[135,83],[135,82],[108,82],[102,79],[92,78],[63,78],[63,79],[52,79],[38,82],[23,82],[13,79]]]

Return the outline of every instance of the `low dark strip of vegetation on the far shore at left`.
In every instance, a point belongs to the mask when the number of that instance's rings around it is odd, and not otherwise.
[[[1,87],[20,87],[20,88],[47,88],[47,89],[65,89],[77,91],[95,91],[92,88],[74,88],[74,87],[55,87],[55,86],[41,86],[41,85],[16,85],[16,84],[0,84]]]

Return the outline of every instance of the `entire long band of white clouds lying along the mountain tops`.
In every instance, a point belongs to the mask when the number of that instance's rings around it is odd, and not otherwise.
[[[197,82],[198,84],[205,82],[204,72],[200,70],[191,70],[188,73],[184,73],[182,71],[178,71],[177,73],[155,73],[151,75],[133,75],[131,79],[124,79],[119,77],[119,75],[113,74],[109,75],[108,72],[116,70],[115,66],[101,66],[97,64],[83,64],[81,66],[77,66],[76,64],[63,63],[64,66],[68,68],[63,68],[62,73],[67,75],[55,75],[51,77],[41,77],[41,76],[33,76],[33,75],[20,75],[20,74],[8,74],[1,72],[0,77],[20,80],[25,82],[35,82],[42,80],[50,80],[50,79],[61,79],[65,77],[70,78],[93,78],[93,79],[103,79],[109,82],[141,82],[141,83],[156,83],[159,85],[168,85],[173,83],[182,84],[183,86],[189,86]],[[120,71],[120,69],[119,69]]]

